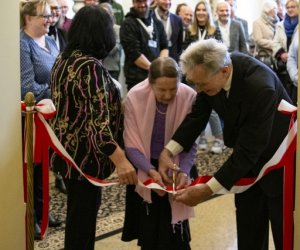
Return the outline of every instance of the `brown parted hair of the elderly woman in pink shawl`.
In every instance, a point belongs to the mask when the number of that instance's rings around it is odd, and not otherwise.
[[[158,57],[152,61],[149,69],[149,83],[154,84],[155,80],[160,77],[181,79],[181,71],[178,64],[171,57]]]

